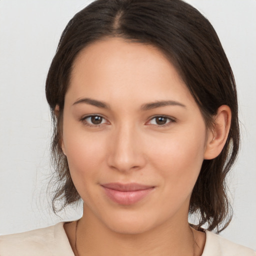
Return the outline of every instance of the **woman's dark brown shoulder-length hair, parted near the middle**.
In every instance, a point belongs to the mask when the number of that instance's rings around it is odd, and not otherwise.
[[[199,228],[220,231],[230,219],[225,176],[239,147],[237,97],[231,67],[218,36],[198,10],[181,0],[96,0],[79,11],[65,27],[46,79],[46,97],[51,108],[54,132],[52,160],[58,182],[52,206],[58,209],[80,197],[71,180],[61,139],[64,96],[72,63],[81,49],[103,37],[122,37],[156,46],[175,65],[210,127],[219,106],[232,112],[231,126],[221,153],[203,160],[194,185],[189,212],[199,214]],[[59,105],[59,116],[54,114]]]

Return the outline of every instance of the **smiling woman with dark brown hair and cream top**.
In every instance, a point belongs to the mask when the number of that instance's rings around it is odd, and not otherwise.
[[[94,1],[62,33],[46,97],[53,208],[81,198],[83,216],[2,236],[0,255],[255,255],[210,232],[230,221],[239,127],[230,65],[196,9]]]

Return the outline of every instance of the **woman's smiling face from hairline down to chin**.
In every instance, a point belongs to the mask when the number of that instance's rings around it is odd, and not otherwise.
[[[121,233],[187,223],[204,120],[155,47],[108,38],[74,61],[62,149],[84,214]]]

